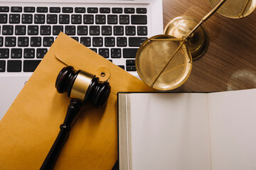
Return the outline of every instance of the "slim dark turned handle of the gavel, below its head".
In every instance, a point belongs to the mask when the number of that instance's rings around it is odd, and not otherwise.
[[[50,151],[48,152],[48,155],[44,160],[40,170],[53,169],[65,141],[68,140],[70,125],[75,119],[75,115],[78,114],[81,106],[82,103],[78,100],[72,99],[70,101],[64,123],[60,125],[60,132],[58,133],[58,137],[53,143],[53,146],[50,148]]]

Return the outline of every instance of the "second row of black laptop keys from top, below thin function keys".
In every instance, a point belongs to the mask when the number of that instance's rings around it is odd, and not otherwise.
[[[60,14],[59,16],[57,14],[10,14],[9,15],[9,23],[49,23],[49,24],[69,24],[70,22],[73,24],[117,24],[119,21],[119,24],[129,24],[130,22],[132,24],[137,25],[146,25],[146,15],[132,15],[131,21],[129,15],[80,15],[80,14],[72,14],[71,18],[68,14]],[[0,23],[7,23],[8,16],[7,14],[0,13]]]

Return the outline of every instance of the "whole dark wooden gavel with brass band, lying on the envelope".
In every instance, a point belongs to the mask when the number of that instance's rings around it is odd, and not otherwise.
[[[68,92],[71,98],[68,111],[63,124],[60,125],[60,132],[53,146],[50,148],[46,159],[40,170],[53,169],[60,150],[70,133],[70,126],[80,108],[85,103],[91,103],[95,107],[104,106],[110,96],[111,86],[108,81],[101,82],[95,75],[75,69],[71,66],[64,67],[55,82],[55,88],[60,94]]]

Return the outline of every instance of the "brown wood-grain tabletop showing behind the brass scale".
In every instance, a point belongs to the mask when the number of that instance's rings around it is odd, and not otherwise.
[[[163,0],[164,27],[177,16],[200,21],[211,10],[208,0]],[[229,91],[256,88],[256,10],[242,19],[215,13],[203,26],[210,43],[193,62],[188,80],[173,91]]]

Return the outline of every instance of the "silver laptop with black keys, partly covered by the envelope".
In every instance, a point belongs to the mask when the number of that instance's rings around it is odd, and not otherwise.
[[[0,0],[0,120],[58,33],[138,77],[139,45],[163,33],[161,0]]]

